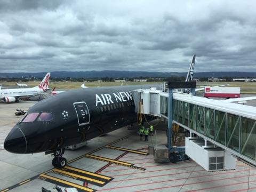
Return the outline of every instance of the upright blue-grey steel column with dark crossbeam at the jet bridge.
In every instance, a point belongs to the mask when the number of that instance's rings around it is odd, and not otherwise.
[[[192,89],[191,93],[195,95],[196,82],[168,82],[169,101],[168,101],[168,129],[167,129],[167,144],[168,150],[172,149],[172,91],[173,89]]]

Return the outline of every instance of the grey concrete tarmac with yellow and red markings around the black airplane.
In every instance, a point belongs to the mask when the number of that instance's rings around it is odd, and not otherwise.
[[[165,123],[154,126],[154,136],[140,140],[139,125],[123,127],[94,138],[77,150],[66,150],[68,164],[52,166],[52,156],[12,154],[3,148],[5,137],[22,118],[16,109],[27,110],[37,101],[0,102],[0,191],[51,191],[55,185],[77,191],[256,191],[256,170],[237,161],[236,170],[207,172],[194,161],[155,161],[149,146],[165,146]],[[150,124],[156,124],[155,121]],[[147,126],[146,126],[147,127]],[[180,135],[179,141],[183,137]]]

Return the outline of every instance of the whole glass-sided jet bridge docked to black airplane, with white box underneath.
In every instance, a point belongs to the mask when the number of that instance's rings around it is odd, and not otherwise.
[[[175,123],[190,132],[186,154],[207,171],[235,169],[236,160],[256,166],[256,107],[174,93],[171,83],[137,92],[141,113],[169,120],[169,151]]]

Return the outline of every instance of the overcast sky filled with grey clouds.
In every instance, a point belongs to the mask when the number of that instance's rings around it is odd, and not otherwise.
[[[256,1],[0,1],[0,73],[256,73]]]

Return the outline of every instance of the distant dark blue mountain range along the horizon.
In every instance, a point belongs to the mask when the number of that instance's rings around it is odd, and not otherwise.
[[[44,77],[49,71],[41,73],[0,73],[0,77]],[[121,70],[103,70],[103,71],[53,71],[51,72],[51,77],[57,78],[95,78],[95,77],[171,77],[171,76],[187,76],[187,73],[176,73],[176,72],[147,72],[147,71],[121,71]],[[194,78],[208,77],[208,78],[218,78],[218,77],[251,77],[256,78],[256,72],[199,72],[194,73]]]

